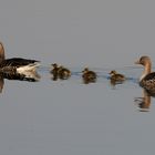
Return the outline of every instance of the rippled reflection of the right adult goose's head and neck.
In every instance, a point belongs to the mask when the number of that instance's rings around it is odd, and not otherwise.
[[[140,112],[148,112],[151,107],[151,96],[146,90],[143,90],[142,97],[135,97],[135,103],[137,104]]]

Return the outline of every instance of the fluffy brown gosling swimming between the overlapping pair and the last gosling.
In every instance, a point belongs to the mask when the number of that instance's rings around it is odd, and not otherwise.
[[[94,71],[90,71],[89,68],[85,68],[82,73],[83,82],[85,84],[96,82],[96,73]]]

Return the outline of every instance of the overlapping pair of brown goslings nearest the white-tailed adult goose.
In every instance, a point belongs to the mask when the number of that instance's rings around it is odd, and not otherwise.
[[[52,64],[53,69],[51,70],[52,80],[68,80],[71,76],[71,71],[63,65],[58,65],[56,63]]]

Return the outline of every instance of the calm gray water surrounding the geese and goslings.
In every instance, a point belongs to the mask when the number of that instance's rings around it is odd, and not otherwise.
[[[6,56],[37,59],[41,66],[38,82],[4,79],[0,154],[153,155],[155,100],[141,106],[143,69],[134,62],[147,54],[155,66],[154,4],[1,0]],[[54,62],[72,76],[52,81]],[[97,73],[96,83],[83,84],[85,66]],[[112,86],[114,69],[127,80]]]

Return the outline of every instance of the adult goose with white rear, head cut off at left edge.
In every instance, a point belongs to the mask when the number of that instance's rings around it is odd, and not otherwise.
[[[24,72],[35,71],[40,62],[22,58],[6,59],[3,44],[0,42],[0,72],[14,72],[23,74]]]

